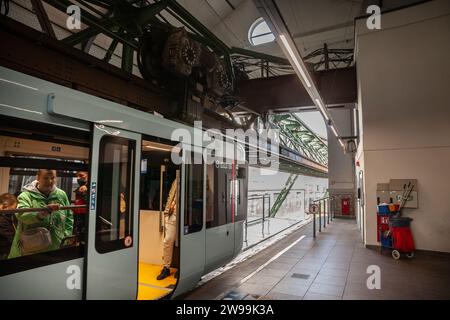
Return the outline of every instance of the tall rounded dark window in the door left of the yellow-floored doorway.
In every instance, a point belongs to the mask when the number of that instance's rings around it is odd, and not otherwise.
[[[133,234],[135,149],[135,141],[125,138],[105,136],[100,141],[95,237],[99,253],[130,246],[125,239]]]

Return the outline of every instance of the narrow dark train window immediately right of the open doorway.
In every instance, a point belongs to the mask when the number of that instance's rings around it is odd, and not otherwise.
[[[200,158],[202,157],[200,156]],[[203,164],[186,164],[184,234],[198,232],[202,227]]]

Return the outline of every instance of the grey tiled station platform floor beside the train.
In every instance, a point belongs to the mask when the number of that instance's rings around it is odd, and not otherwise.
[[[365,248],[352,220],[335,219],[316,239],[312,234],[309,223],[182,299],[450,299],[448,255],[418,252],[411,260],[394,260],[390,252]],[[374,265],[381,288],[371,290],[367,268]]]

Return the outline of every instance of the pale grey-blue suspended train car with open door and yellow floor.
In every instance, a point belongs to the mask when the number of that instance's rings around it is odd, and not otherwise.
[[[0,194],[17,196],[39,169],[56,170],[73,209],[77,172],[88,172],[89,186],[86,222],[58,248],[3,256],[0,299],[173,298],[232,260],[242,248],[247,211],[245,150],[233,142],[239,156],[230,161],[174,163],[176,148],[184,160],[204,148],[172,141],[180,128],[193,132],[0,67]],[[177,239],[171,274],[157,280],[173,185]]]

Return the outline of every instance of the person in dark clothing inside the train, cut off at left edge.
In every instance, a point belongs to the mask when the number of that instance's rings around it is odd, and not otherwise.
[[[17,199],[12,194],[4,193],[0,195],[0,210],[15,209]],[[2,214],[0,211],[0,260],[8,258],[14,238],[15,226],[13,221],[14,213]]]

